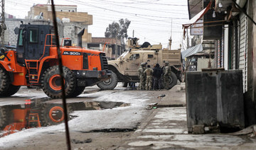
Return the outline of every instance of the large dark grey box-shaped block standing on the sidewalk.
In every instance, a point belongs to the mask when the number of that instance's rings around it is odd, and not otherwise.
[[[186,73],[188,128],[193,125],[245,127],[242,71]]]

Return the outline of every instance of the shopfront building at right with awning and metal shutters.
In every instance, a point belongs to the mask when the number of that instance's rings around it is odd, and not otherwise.
[[[247,125],[256,123],[256,7],[255,0],[188,0],[191,21],[201,22],[202,43],[215,45],[215,68],[240,69]]]

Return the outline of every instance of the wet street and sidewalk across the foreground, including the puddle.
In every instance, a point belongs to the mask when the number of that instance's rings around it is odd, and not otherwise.
[[[169,91],[129,90],[121,84],[112,91],[86,88],[67,99],[72,149],[255,149],[252,127],[188,134],[184,85]],[[1,131],[0,149],[67,149],[60,99],[22,88],[0,104],[1,118],[8,116],[9,122]],[[18,129],[23,122],[26,128]],[[14,127],[18,130],[10,132]]]

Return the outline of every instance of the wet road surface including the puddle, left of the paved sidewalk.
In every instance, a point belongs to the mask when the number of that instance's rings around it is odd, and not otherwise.
[[[150,105],[157,103],[160,100],[157,97],[166,92],[129,90],[121,84],[112,91],[100,91],[97,86],[85,88],[84,93],[77,98],[67,99],[70,113],[68,125],[73,146],[79,147],[79,144],[88,142],[87,140],[90,142],[91,139],[90,145],[94,148],[106,148],[117,144],[139,127],[151,114]],[[4,108],[2,112],[6,112],[9,121],[15,121],[16,115],[9,114],[15,113],[14,110],[26,110],[25,113],[28,113],[39,109],[43,112],[39,113],[42,114],[39,115],[41,127],[37,124],[31,125],[26,127],[29,129],[21,129],[9,135],[2,131],[0,149],[51,149],[56,146],[65,149],[61,103],[61,99],[50,99],[43,91],[26,87],[22,87],[14,96],[0,98],[1,108]],[[51,112],[50,121],[48,112]],[[25,118],[27,123],[31,122],[28,117]],[[19,121],[21,119],[16,119],[16,122]]]

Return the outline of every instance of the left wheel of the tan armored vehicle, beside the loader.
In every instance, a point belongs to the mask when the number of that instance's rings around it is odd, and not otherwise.
[[[112,90],[117,86],[117,74],[112,71],[110,79],[97,83],[97,86],[102,90]]]

